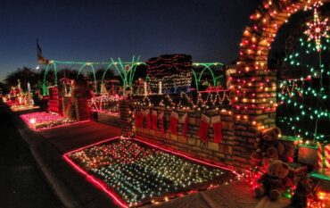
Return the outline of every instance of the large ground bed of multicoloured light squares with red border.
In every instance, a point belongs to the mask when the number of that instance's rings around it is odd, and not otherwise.
[[[64,157],[108,190],[108,194],[123,207],[167,201],[186,193],[228,184],[239,177],[235,171],[200,162],[185,154],[170,154],[137,139],[112,138]]]

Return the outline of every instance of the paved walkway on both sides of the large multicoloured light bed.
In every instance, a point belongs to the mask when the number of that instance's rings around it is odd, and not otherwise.
[[[102,190],[87,182],[84,176],[64,162],[62,154],[109,137],[120,136],[119,128],[87,121],[35,132],[29,129],[18,116],[15,116],[14,119],[18,123],[21,135],[29,143],[40,169],[45,173],[46,178],[66,207],[117,207]],[[176,198],[168,203],[151,204],[147,207],[252,208],[258,202],[251,197],[249,187],[238,183],[235,186],[217,187]]]

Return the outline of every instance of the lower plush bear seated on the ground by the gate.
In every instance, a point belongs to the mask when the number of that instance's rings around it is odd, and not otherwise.
[[[276,201],[288,187],[293,186],[293,179],[290,178],[289,166],[280,160],[270,162],[268,170],[257,181],[259,187],[254,189],[256,197],[269,196],[271,201]]]

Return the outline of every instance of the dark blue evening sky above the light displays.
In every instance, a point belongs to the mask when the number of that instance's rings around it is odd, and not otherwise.
[[[186,53],[194,62],[231,62],[244,25],[260,0],[0,0],[0,80],[36,67],[36,38],[45,57],[63,61],[143,61]]]

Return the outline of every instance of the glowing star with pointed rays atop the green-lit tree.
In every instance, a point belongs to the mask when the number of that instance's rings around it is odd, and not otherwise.
[[[309,37],[307,41],[314,39],[318,52],[321,51],[321,38],[329,38],[328,31],[330,28],[328,18],[321,21],[318,16],[318,11],[314,9],[314,20],[306,24],[308,29],[304,33]]]

